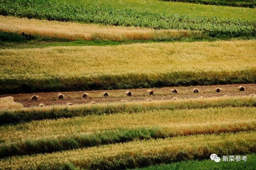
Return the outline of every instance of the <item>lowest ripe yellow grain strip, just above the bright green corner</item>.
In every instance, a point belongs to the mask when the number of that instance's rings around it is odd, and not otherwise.
[[[133,160],[131,166],[141,166],[139,160],[152,161],[152,157],[158,158],[157,162],[163,163],[164,158],[169,162],[182,159],[209,159],[211,153],[218,156],[230,154],[246,154],[256,152],[256,132],[239,132],[236,134],[226,133],[219,135],[196,135],[188,137],[177,137],[157,139],[149,141],[133,141],[124,144],[104,145],[87,149],[78,149],[51,154],[38,154],[34,156],[10,157],[1,159],[2,168],[46,168],[51,165],[72,163],[80,168],[90,168],[96,162],[108,161],[116,164],[115,160],[127,158]],[[182,149],[181,149],[182,148]],[[183,157],[179,157],[183,156]],[[118,165],[117,165],[118,166]],[[118,167],[119,168],[119,167]]]

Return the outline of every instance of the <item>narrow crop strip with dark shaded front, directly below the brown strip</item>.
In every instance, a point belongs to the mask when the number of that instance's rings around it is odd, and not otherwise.
[[[200,101],[200,102],[199,102]],[[102,115],[145,110],[203,109],[210,107],[255,107],[253,97],[220,97],[188,100],[166,100],[153,102],[131,102],[127,104],[85,104],[75,106],[52,106],[0,111],[0,125],[29,122],[33,120],[68,118],[73,116]]]

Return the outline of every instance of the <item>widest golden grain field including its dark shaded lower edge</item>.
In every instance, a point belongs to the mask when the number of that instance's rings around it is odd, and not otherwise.
[[[243,40],[2,49],[0,93],[255,83],[255,46]]]

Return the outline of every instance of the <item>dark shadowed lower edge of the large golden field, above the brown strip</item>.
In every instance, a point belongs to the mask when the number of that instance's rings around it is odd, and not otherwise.
[[[0,94],[249,83],[256,83],[256,68],[234,72],[127,73],[87,77],[45,76],[41,79],[26,79],[21,75],[19,78],[0,78]]]

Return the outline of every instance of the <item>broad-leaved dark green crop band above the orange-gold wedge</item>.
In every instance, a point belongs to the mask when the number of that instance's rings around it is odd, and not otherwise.
[[[255,19],[249,21],[219,17],[188,17],[186,15],[150,13],[90,5],[81,6],[39,0],[17,0],[15,3],[11,0],[1,0],[0,3],[5,4],[0,6],[0,14],[2,15],[58,21],[100,23],[115,26],[141,26],[154,29],[198,30],[202,31],[207,36],[217,38],[250,38],[256,35]],[[235,12],[232,13],[232,15],[234,14]],[[254,18],[254,11],[249,16]]]

